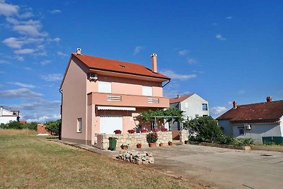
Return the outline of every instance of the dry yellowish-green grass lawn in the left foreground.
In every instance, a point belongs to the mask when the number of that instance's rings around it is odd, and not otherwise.
[[[27,135],[0,134],[0,178],[0,188],[202,188],[144,166]]]

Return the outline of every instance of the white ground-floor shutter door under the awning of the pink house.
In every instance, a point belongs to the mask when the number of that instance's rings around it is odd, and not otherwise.
[[[100,133],[113,134],[115,130],[122,130],[123,119],[120,116],[101,116]]]

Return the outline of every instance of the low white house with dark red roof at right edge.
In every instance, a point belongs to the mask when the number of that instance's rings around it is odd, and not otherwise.
[[[283,144],[283,101],[237,105],[216,118],[224,134],[238,138],[252,138],[255,143]]]

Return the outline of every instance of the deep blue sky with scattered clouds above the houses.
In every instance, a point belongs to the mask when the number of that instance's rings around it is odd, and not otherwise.
[[[0,104],[23,120],[59,118],[69,55],[119,59],[172,78],[165,96],[197,93],[215,118],[283,99],[282,1],[0,0]]]

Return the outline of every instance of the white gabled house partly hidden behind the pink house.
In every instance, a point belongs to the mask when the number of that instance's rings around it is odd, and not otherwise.
[[[177,96],[170,99],[170,108],[178,108],[184,111],[183,118],[192,120],[209,115],[208,101],[198,96],[196,93],[187,96]],[[170,130],[180,130],[180,123],[172,123]]]

